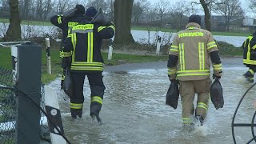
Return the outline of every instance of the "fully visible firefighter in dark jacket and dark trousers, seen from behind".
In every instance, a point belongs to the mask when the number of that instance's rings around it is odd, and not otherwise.
[[[114,24],[102,26],[90,22],[97,14],[94,7],[86,10],[86,18],[77,26],[73,26],[64,44],[64,58],[67,67],[70,63],[70,78],[73,83],[73,96],[70,98],[70,111],[72,118],[82,117],[84,102],[83,85],[87,76],[90,83],[90,116],[93,120],[101,122],[99,112],[102,108],[102,99],[105,86],[102,82],[103,58],[101,54],[102,39],[114,36]],[[70,56],[70,54],[71,57]],[[67,57],[66,55],[67,54]],[[69,62],[70,61],[70,62]]]

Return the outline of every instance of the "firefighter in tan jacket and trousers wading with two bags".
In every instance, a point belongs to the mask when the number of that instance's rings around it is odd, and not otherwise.
[[[202,126],[206,118],[211,85],[210,60],[213,77],[222,76],[218,46],[210,31],[201,29],[200,25],[200,16],[191,15],[186,29],[175,35],[169,51],[168,77],[171,82],[178,79],[180,83],[183,126]],[[194,94],[198,94],[195,110]]]

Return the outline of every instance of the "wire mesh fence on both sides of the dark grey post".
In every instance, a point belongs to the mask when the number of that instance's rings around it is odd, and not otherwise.
[[[12,70],[7,70],[0,66],[0,86],[6,87],[15,87],[13,81],[13,72]],[[40,94],[40,105],[42,110],[45,110],[44,103],[44,85],[41,87]],[[0,143],[4,144],[12,144],[16,142],[16,122],[15,118],[17,116],[17,94],[15,90],[6,89],[4,87],[0,87]],[[40,128],[41,134],[40,138],[46,142],[50,142],[49,137],[49,129],[47,125],[46,115],[40,111]],[[24,133],[26,130],[24,130]]]

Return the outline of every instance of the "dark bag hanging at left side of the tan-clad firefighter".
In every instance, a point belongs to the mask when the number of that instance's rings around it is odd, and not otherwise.
[[[169,89],[166,94],[166,105],[169,105],[174,108],[174,110],[177,109],[178,106],[178,80],[174,80],[170,83]]]

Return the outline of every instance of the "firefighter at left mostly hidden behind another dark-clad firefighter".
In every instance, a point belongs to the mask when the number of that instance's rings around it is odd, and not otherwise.
[[[60,54],[59,57],[63,58],[63,42],[67,37],[72,26],[75,26],[84,18],[85,14],[85,7],[82,5],[76,5],[74,9],[67,10],[64,14],[61,15],[54,15],[50,18],[50,22],[54,24],[54,26],[58,26],[62,30],[62,44],[60,47]],[[62,62],[62,82],[61,82],[61,89],[63,80],[65,78],[66,70],[63,69],[63,62]]]

